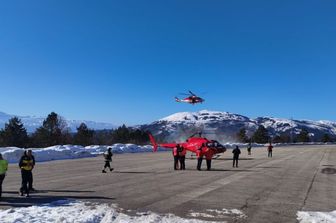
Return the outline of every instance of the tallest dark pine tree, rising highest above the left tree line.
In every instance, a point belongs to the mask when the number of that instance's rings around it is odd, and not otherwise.
[[[43,125],[33,134],[35,146],[46,147],[63,145],[69,138],[67,124],[55,112],[51,112],[43,121]]]

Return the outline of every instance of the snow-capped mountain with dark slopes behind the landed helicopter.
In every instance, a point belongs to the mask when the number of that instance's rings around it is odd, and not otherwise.
[[[159,139],[185,140],[196,132],[203,132],[208,138],[216,138],[223,142],[235,142],[236,134],[245,128],[251,136],[263,125],[272,136],[287,133],[292,136],[306,129],[312,140],[320,139],[324,134],[336,137],[336,122],[289,120],[280,118],[259,117],[255,119],[246,116],[217,111],[180,112],[148,125],[142,125],[143,130],[151,131]]]

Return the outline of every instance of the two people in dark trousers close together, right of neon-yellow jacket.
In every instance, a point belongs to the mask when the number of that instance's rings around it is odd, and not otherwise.
[[[19,167],[21,169],[21,188],[20,188],[20,196],[26,193],[26,197],[29,197],[29,191],[32,189],[33,185],[33,173],[32,170],[35,166],[35,159],[33,158],[32,151],[24,151],[23,156],[20,159]]]

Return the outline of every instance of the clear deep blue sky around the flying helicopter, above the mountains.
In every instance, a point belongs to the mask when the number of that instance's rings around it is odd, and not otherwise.
[[[334,0],[2,1],[0,111],[336,121],[335,12]],[[188,90],[205,103],[174,101]]]

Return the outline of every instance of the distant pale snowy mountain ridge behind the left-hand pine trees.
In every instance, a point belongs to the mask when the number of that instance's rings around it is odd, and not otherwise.
[[[0,129],[5,127],[5,123],[8,123],[8,120],[13,118],[15,115],[9,115],[4,112],[0,112]],[[37,128],[42,126],[43,121],[46,117],[36,117],[36,116],[17,116],[21,119],[24,127],[27,129],[28,132],[34,132]],[[103,123],[103,122],[94,122],[94,121],[86,121],[86,120],[69,120],[65,119],[68,124],[68,127],[71,129],[72,132],[76,131],[76,128],[81,124],[85,123],[88,128],[101,130],[101,129],[112,129],[115,128],[116,125],[110,123]]]

